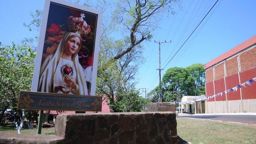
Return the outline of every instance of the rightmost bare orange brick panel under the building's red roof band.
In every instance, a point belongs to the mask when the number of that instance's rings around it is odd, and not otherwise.
[[[256,68],[256,47],[239,55],[241,72]]]

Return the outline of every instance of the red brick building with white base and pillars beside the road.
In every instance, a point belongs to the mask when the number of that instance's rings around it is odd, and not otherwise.
[[[256,81],[244,85],[256,78],[256,35],[206,63],[204,69],[206,113],[256,112]]]

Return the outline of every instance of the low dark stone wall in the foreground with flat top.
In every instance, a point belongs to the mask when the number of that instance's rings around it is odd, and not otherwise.
[[[177,143],[174,112],[123,112],[58,115],[55,135],[67,144]]]

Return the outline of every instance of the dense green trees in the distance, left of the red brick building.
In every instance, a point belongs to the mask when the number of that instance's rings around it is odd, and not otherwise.
[[[204,66],[200,63],[193,64],[186,68],[173,67],[166,71],[162,81],[162,101],[180,101],[184,95],[205,94],[205,72]],[[159,97],[159,86],[153,89],[148,95],[151,100],[157,102]]]

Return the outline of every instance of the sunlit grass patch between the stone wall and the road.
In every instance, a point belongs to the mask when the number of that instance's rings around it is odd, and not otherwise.
[[[256,126],[176,118],[177,135],[192,144],[256,144]]]

